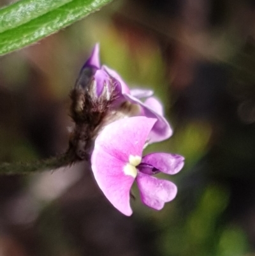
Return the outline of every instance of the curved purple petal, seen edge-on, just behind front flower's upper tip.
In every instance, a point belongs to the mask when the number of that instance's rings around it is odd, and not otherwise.
[[[166,140],[171,137],[173,131],[170,128],[170,124],[166,119],[157,114],[155,110],[152,110],[149,106],[145,103],[141,102],[140,100],[136,99],[135,97],[131,96],[130,94],[124,94],[124,97],[131,103],[138,104],[142,107],[141,116],[146,116],[150,118],[156,118],[157,122],[154,124],[150,135],[149,135],[149,143],[159,142],[162,140]]]

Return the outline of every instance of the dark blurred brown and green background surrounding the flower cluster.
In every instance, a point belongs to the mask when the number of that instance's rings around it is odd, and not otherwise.
[[[1,177],[0,254],[254,255],[254,37],[252,0],[115,0],[1,57],[2,162],[65,151],[68,94],[99,42],[101,63],[164,103],[175,132],[147,151],[182,154],[186,165],[162,211],[142,206],[134,188],[131,218],[83,164]]]

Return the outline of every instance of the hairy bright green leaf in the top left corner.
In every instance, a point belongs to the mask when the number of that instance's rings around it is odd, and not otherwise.
[[[111,0],[21,0],[0,10],[0,54],[57,32]]]

